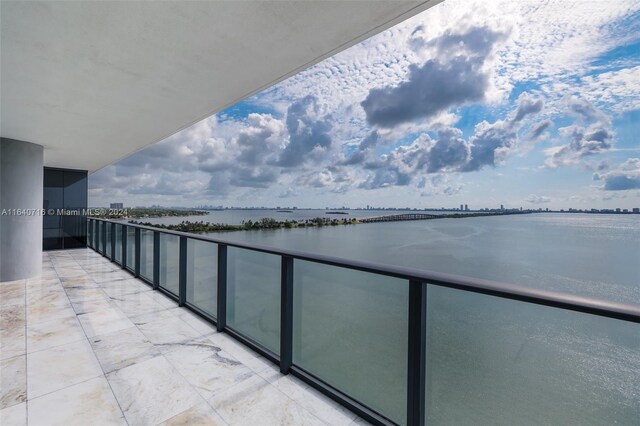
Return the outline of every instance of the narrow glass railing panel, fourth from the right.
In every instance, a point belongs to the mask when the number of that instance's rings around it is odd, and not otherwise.
[[[218,246],[187,240],[187,303],[213,318],[218,308]]]

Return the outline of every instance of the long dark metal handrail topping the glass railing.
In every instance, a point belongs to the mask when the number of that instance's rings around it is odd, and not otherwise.
[[[371,272],[379,275],[402,278],[410,281],[421,281],[440,287],[448,287],[472,293],[486,294],[504,299],[519,300],[537,305],[551,306],[555,308],[588,313],[602,317],[614,318],[623,321],[640,323],[640,306],[618,302],[599,300],[589,297],[577,296],[556,291],[541,290],[530,287],[522,287],[516,284],[507,284],[480,278],[464,277],[443,272],[424,271],[403,266],[386,265],[381,263],[366,262],[361,260],[343,259],[333,256],[306,253],[295,250],[274,249],[272,247],[239,243],[234,241],[212,238],[205,235],[189,232],[172,231],[169,229],[155,228],[152,226],[117,222],[107,219],[91,218],[109,223],[118,223],[135,228],[146,229],[154,232],[193,238],[216,244],[224,244],[229,247],[237,247],[247,250],[259,251],[278,256],[289,256],[298,260],[338,266],[363,272]]]

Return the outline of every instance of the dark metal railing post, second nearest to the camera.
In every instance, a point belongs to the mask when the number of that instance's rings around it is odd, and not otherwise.
[[[280,372],[293,363],[293,258],[282,256],[280,272]]]

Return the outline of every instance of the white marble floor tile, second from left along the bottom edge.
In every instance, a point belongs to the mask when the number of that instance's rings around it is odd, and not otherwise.
[[[32,425],[126,425],[104,376],[30,399]]]

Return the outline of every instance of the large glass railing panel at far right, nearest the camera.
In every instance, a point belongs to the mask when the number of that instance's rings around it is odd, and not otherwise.
[[[434,285],[427,424],[637,424],[638,325]]]

